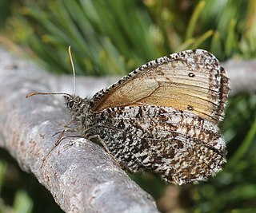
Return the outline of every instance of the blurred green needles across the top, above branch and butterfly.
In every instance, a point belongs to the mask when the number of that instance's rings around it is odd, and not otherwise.
[[[221,60],[255,56],[254,1],[183,7],[176,1],[26,1],[7,26],[14,41],[58,73],[70,73],[68,45],[77,73],[87,75],[128,73],[156,57],[198,47]]]

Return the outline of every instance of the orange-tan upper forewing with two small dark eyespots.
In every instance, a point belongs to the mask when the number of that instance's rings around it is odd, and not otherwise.
[[[158,105],[190,110],[213,124],[222,120],[228,93],[226,71],[206,50],[186,50],[142,65],[96,93],[92,110]]]

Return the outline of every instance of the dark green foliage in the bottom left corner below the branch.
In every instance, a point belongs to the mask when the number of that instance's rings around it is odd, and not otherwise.
[[[38,180],[0,148],[0,212],[63,212]],[[7,163],[8,162],[8,163]]]

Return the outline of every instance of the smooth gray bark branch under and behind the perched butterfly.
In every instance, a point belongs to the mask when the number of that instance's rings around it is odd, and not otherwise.
[[[70,113],[62,96],[31,92],[73,93],[72,77],[43,72],[0,48],[0,147],[32,172],[66,212],[158,212],[154,200],[108,154],[83,138],[66,137],[42,164],[58,141]],[[230,95],[255,93],[256,61],[222,64],[230,77]],[[78,77],[77,93],[91,97],[118,78]],[[68,132],[65,136],[75,135]]]

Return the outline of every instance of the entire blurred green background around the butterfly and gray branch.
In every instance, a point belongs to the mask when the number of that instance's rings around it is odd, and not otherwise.
[[[220,61],[256,57],[254,0],[2,0],[0,43],[49,72],[125,75],[139,65],[202,48]],[[231,97],[221,124],[228,164],[207,183],[174,187],[132,176],[162,212],[256,212],[256,96]],[[39,193],[38,193],[39,191]],[[0,212],[62,212],[50,193],[0,149]]]

